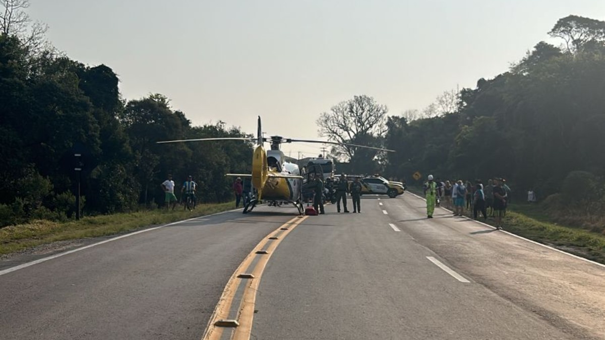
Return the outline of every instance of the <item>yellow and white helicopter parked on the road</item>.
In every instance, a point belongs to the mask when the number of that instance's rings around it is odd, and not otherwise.
[[[178,142],[204,142],[217,140],[243,140],[247,142],[256,142],[252,154],[252,174],[225,174],[229,177],[249,178],[255,195],[249,200],[245,200],[243,213],[251,212],[258,204],[266,202],[268,206],[281,206],[282,204],[293,204],[298,209],[298,214],[304,214],[302,203],[302,180],[304,169],[301,170],[296,163],[290,162],[290,157],[286,157],[280,150],[282,143],[303,142],[303,143],[322,143],[334,145],[348,145],[359,148],[376,149],[380,151],[393,151],[389,149],[374,148],[372,146],[345,144],[338,142],[327,142],[322,140],[304,140],[304,139],[286,139],[281,136],[263,137],[261,132],[261,117],[258,116],[257,138],[246,137],[221,137],[221,138],[202,138],[202,139],[183,139],[183,140],[165,140],[162,143]],[[264,143],[270,143],[270,149],[264,149]]]

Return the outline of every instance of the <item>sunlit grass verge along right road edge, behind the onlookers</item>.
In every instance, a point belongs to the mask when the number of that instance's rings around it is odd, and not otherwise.
[[[409,191],[423,196],[422,188],[412,187]],[[471,218],[473,216],[472,212],[466,210],[464,214]],[[481,218],[479,221],[490,225],[494,223],[492,218],[487,221]],[[506,211],[503,227],[512,234],[605,264],[604,234],[580,226],[557,224],[537,204],[511,204]]]

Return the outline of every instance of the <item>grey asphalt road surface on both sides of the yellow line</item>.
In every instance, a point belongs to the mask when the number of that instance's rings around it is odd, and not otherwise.
[[[424,209],[364,197],[362,214],[328,205],[289,227],[253,279],[250,338],[605,339],[604,266]],[[227,212],[0,266],[0,339],[200,339],[221,294],[244,317],[244,288],[223,290],[293,214]]]

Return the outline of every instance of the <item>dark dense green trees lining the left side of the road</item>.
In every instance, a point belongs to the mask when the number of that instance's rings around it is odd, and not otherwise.
[[[126,101],[118,82],[105,65],[30,53],[16,34],[0,35],[0,225],[73,216],[80,165],[87,214],[161,203],[168,173],[177,188],[193,175],[202,202],[231,198],[224,173],[249,169],[249,144],[155,142],[246,135],[192,126],[160,94]]]

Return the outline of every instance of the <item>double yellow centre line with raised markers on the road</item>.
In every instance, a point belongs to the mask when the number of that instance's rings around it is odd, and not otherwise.
[[[248,340],[250,332],[252,332],[252,319],[254,316],[254,304],[257,298],[257,290],[263,275],[264,267],[273,251],[279,246],[289,233],[302,221],[306,220],[307,216],[295,217],[292,220],[282,224],[278,229],[273,230],[266,238],[261,240],[254,249],[246,256],[244,261],[237,267],[223,290],[221,298],[218,300],[217,307],[208,322],[206,332],[204,332],[203,340],[219,340],[223,336],[224,330],[232,330],[232,340]],[[256,266],[249,272],[250,265],[258,258]],[[246,277],[240,277],[243,274]],[[250,276],[251,274],[251,276]],[[235,292],[237,292],[240,284],[244,282],[243,295],[240,302],[240,307],[237,313],[237,319],[228,320],[231,311],[231,305],[234,302]],[[231,327],[231,328],[229,328]],[[235,328],[233,328],[235,327]]]

